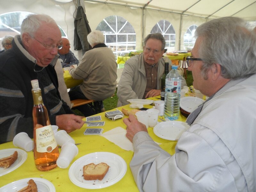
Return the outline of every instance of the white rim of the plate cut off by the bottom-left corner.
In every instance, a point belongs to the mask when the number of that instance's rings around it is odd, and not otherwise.
[[[1,187],[0,191],[7,189],[6,191],[11,192],[10,190],[13,189],[12,187],[16,187],[15,184],[17,185],[19,183],[22,184],[22,185],[25,184],[24,185],[24,187],[25,187],[27,185],[27,182],[30,179],[33,179],[35,181],[35,183],[37,185],[37,188],[38,188],[38,182],[40,182],[40,184],[44,184],[44,186],[47,186],[49,188],[49,192],[56,192],[55,186],[52,184],[52,182],[50,182],[49,180],[46,180],[44,178],[39,178],[39,177],[25,178],[25,179],[13,181],[13,182],[8,183],[7,185]],[[20,188],[20,189],[22,189],[22,188]],[[20,189],[15,189],[15,191],[18,191]],[[40,190],[40,188],[38,188],[38,190],[42,191],[42,190]],[[44,192],[47,192],[47,191],[44,191]]]

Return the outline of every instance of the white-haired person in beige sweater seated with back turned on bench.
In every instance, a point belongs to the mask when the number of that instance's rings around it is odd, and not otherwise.
[[[116,91],[116,59],[114,53],[104,44],[104,35],[94,30],[87,36],[92,49],[85,52],[77,68],[70,68],[74,79],[82,79],[83,83],[71,89],[68,94],[71,100],[95,100],[94,106],[76,107],[84,116],[105,111],[103,100],[111,97]]]

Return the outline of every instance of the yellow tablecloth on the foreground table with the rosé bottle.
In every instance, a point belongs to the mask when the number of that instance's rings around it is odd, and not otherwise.
[[[156,97],[156,98],[158,98],[158,97]],[[150,98],[150,99],[158,100],[156,98]],[[152,108],[152,105],[144,105],[144,107]],[[117,109],[119,109],[121,111],[122,108],[131,110],[131,108],[129,108],[129,105],[125,105],[125,106],[119,107]],[[115,109],[113,109],[113,110],[115,110]],[[123,119],[111,121],[110,119],[105,117],[105,113],[100,113],[97,115],[100,115],[102,118],[102,121],[105,121],[105,125],[102,127],[99,127],[99,128],[104,129],[103,133],[107,132],[113,128],[116,128],[118,126],[124,128],[124,129],[126,127],[126,125],[123,123]],[[125,117],[127,117],[127,116],[125,116]],[[163,117],[161,117],[161,118],[163,118]],[[186,120],[186,118],[184,116],[180,115],[180,118],[178,119],[178,121],[185,121],[185,120]],[[124,177],[120,181],[118,181],[116,184],[109,186],[107,188],[98,189],[98,191],[104,191],[104,192],[105,191],[106,192],[108,192],[108,191],[109,192],[114,192],[114,191],[116,191],[116,192],[120,192],[120,191],[136,192],[136,191],[138,191],[138,188],[133,180],[132,172],[129,167],[129,163],[132,159],[133,152],[126,151],[126,150],[118,147],[117,145],[115,145],[114,143],[110,142],[109,140],[105,139],[104,137],[102,137],[100,135],[84,135],[83,133],[86,128],[87,128],[87,126],[86,126],[86,124],[84,124],[84,126],[80,130],[76,130],[76,131],[70,133],[70,136],[76,141],[76,143],[81,143],[80,145],[77,146],[79,149],[79,153],[73,159],[71,164],[74,161],[76,161],[78,158],[80,158],[86,154],[89,154],[89,153],[94,153],[94,152],[115,153],[115,154],[121,156],[125,160],[125,162],[127,164],[127,172],[124,175]],[[152,127],[148,128],[148,132],[153,140],[155,140],[158,143],[162,143],[160,145],[161,148],[163,148],[170,154],[174,153],[174,147],[175,147],[177,141],[164,140],[164,139],[157,137],[154,134]],[[0,150],[7,149],[7,148],[17,148],[17,147],[15,147],[12,144],[12,142],[8,142],[8,143],[4,143],[4,144],[0,145]],[[70,165],[69,165],[69,167],[70,167]],[[53,185],[55,186],[57,192],[92,191],[91,189],[84,189],[84,188],[77,187],[75,184],[73,184],[69,180],[69,177],[68,177],[69,167],[66,169],[61,169],[61,168],[57,167],[49,172],[38,171],[36,169],[36,166],[34,163],[33,152],[30,151],[30,152],[28,152],[28,158],[24,162],[24,164],[22,164],[16,170],[0,177],[0,180],[1,180],[0,187],[6,185],[8,183],[11,183],[13,181],[16,181],[16,180],[20,180],[20,179],[24,179],[24,178],[38,177],[38,178],[44,178],[44,179],[51,181],[53,183]],[[2,169],[2,168],[0,168],[0,169]]]

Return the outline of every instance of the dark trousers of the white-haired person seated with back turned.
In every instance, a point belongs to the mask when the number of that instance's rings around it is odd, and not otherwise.
[[[87,99],[88,100],[88,98],[85,97],[85,95],[83,94],[83,92],[81,91],[79,86],[76,86],[76,87],[73,87],[72,89],[70,89],[70,91],[68,92],[68,95],[70,97],[70,100],[75,100],[75,99]],[[79,111],[81,111],[81,113],[84,114],[84,116],[87,117],[87,116],[91,116],[91,115],[100,113],[102,108],[104,108],[103,101],[94,101],[93,104],[89,103],[89,104],[75,107],[73,109],[78,109]]]

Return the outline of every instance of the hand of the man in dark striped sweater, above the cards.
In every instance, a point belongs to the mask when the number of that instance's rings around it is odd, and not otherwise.
[[[74,114],[58,115],[56,116],[56,125],[67,133],[70,133],[83,126],[84,121],[82,118],[84,117]]]

